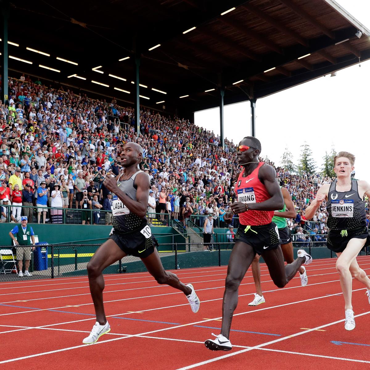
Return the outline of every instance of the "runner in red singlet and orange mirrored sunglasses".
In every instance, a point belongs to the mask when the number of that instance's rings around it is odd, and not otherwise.
[[[243,138],[237,150],[238,161],[243,169],[235,186],[238,201],[231,208],[234,213],[239,214],[240,226],[235,235],[225,281],[221,334],[213,334],[216,339],[205,341],[205,346],[213,351],[229,351],[232,348],[229,333],[233,312],[238,304],[239,285],[256,253],[262,255],[273,282],[279,288],[284,287],[296,275],[300,266],[312,262],[311,256],[299,249],[298,258],[284,265],[279,232],[271,221],[275,209],[282,209],[284,206],[275,169],[259,162],[261,143],[258,139],[250,136]],[[231,219],[232,213],[226,213],[225,222],[230,223]]]

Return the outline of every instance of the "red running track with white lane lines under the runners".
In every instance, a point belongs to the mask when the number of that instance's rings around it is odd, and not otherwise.
[[[357,258],[370,271],[370,256]],[[95,323],[87,277],[0,284],[1,369],[346,369],[370,368],[370,305],[353,280],[356,328],[344,330],[344,301],[335,259],[307,266],[285,288],[261,265],[266,303],[249,307],[255,287],[248,271],[239,288],[229,352],[203,342],[219,333],[226,267],[177,270],[201,299],[191,312],[181,292],[148,273],[106,275],[104,305],[111,332],[95,344],[82,339]]]

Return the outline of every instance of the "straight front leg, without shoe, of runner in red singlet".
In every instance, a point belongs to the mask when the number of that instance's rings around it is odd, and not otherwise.
[[[223,293],[222,300],[221,334],[226,338],[229,338],[232,316],[238,305],[240,282],[255,255],[256,252],[247,243],[236,242],[232,249],[225,281],[225,293]]]

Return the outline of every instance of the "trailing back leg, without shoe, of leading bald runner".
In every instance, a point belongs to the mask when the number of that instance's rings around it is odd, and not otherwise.
[[[183,284],[177,275],[172,272],[165,271],[162,266],[161,259],[159,258],[157,248],[154,248],[154,252],[146,258],[141,259],[147,268],[150,275],[157,280],[158,284],[167,284],[174,287],[175,289],[181,290],[185,295],[191,294],[191,288]]]

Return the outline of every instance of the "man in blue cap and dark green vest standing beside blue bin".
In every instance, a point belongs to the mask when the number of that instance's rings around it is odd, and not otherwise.
[[[19,277],[22,276],[32,276],[28,272],[28,268],[30,266],[30,259],[31,259],[31,249],[35,249],[35,237],[32,227],[27,225],[27,216],[21,217],[20,225],[14,226],[13,229],[9,232],[10,238],[14,241],[17,249],[17,261],[18,261],[18,270],[19,270]],[[15,236],[17,238],[15,238]],[[32,245],[32,247],[31,247]],[[23,268],[23,257],[24,257],[24,275],[22,272]]]

